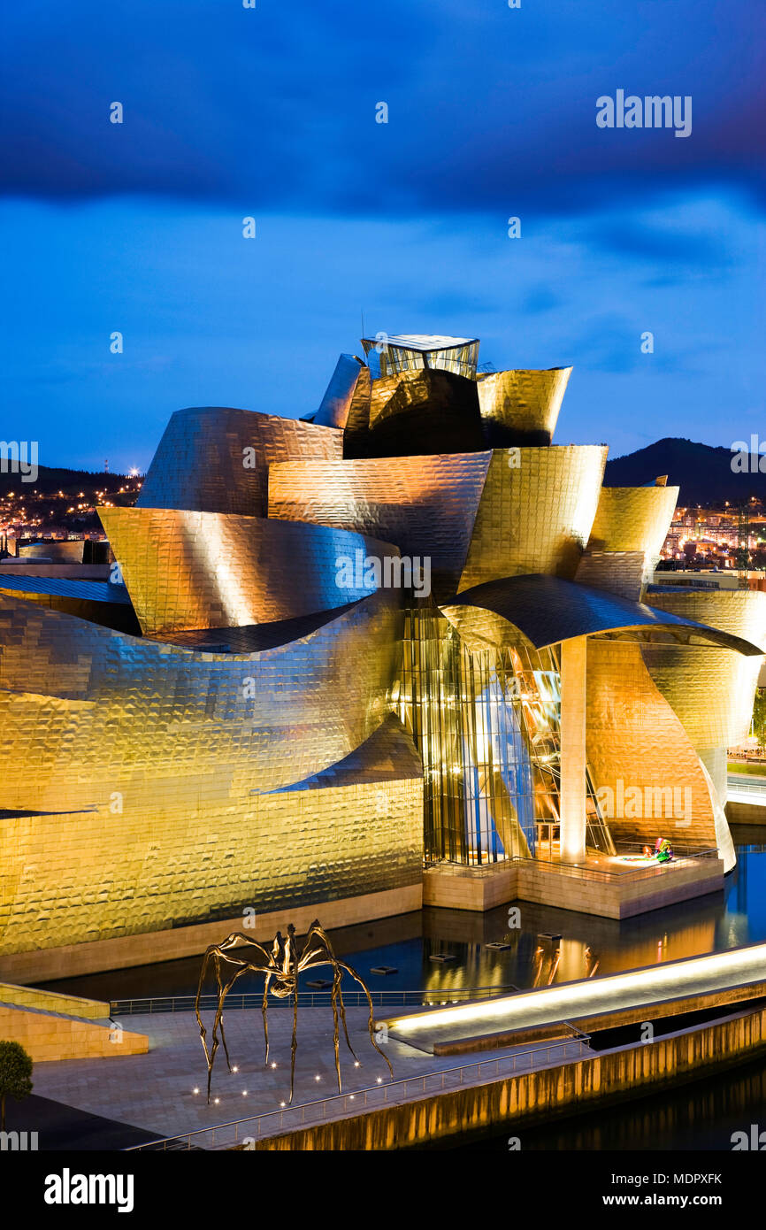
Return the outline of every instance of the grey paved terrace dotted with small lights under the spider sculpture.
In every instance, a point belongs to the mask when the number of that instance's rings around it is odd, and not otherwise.
[[[203,1149],[225,1146],[243,1135],[269,1135],[284,1128],[300,1127],[301,1122],[331,1118],[352,1113],[364,1106],[379,1106],[384,1101],[406,1102],[423,1092],[422,1080],[427,1077],[428,1092],[444,1087],[443,1073],[454,1076],[454,1084],[481,1082],[496,1075],[509,1075],[518,1070],[551,1066],[564,1059],[574,1059],[586,1052],[579,1041],[561,1042],[537,1047],[508,1048],[481,1057],[480,1064],[465,1058],[448,1059],[425,1055],[403,1042],[390,1041],[384,1048],[393,1068],[393,1080],[386,1063],[370,1046],[366,1028],[366,1009],[347,1007],[348,1032],[352,1046],[360,1060],[354,1066],[341,1031],[341,1071],[344,1097],[332,1101],[318,1111],[306,1112],[301,1103],[316,1103],[336,1098],[338,1085],[334,1071],[332,1043],[332,1009],[300,1007],[298,1015],[298,1053],[295,1063],[295,1096],[291,1109],[279,1113],[290,1096],[290,1036],[293,1012],[277,1004],[269,1006],[269,1066],[263,1068],[263,1018],[259,1009],[232,1009],[224,1017],[226,1042],[236,1073],[229,1073],[223,1047],[219,1047],[213,1071],[211,1101],[207,1105],[207,1064],[194,1014],[162,1012],[135,1014],[122,1022],[149,1037],[149,1053],[111,1059],[77,1059],[37,1064],[34,1068],[34,1092],[90,1114],[100,1114],[112,1121],[143,1128],[159,1137],[176,1137],[199,1132],[242,1119],[268,1114],[261,1125],[240,1128],[235,1132],[218,1132],[215,1138],[192,1138],[192,1145]],[[204,1014],[205,1025],[213,1021],[213,1012]],[[209,1036],[209,1033],[208,1033]],[[496,1070],[496,1059],[502,1068]],[[277,1066],[272,1068],[274,1063]],[[318,1080],[317,1080],[318,1077]],[[198,1089],[198,1093],[193,1090]],[[360,1091],[369,1090],[368,1095]],[[247,1091],[247,1092],[245,1092]],[[357,1095],[358,1101],[350,1098]],[[214,1101],[218,1098],[218,1102]],[[273,1114],[272,1112],[277,1112]],[[44,1149],[44,1123],[39,1124],[41,1148]]]

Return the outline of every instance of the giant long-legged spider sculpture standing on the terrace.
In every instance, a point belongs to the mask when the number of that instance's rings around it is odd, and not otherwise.
[[[247,950],[247,952],[245,951]],[[213,962],[215,969],[215,983],[218,986],[218,1007],[215,1010],[215,1018],[213,1021],[213,1033],[210,1037],[210,1046],[207,1042],[207,1030],[202,1023],[202,1017],[199,1015],[199,999],[202,995],[202,989],[208,973],[209,963]],[[345,962],[338,961],[334,952],[332,951],[332,945],[326,932],[320,926],[318,921],[315,921],[309,927],[309,934],[306,935],[306,942],[304,945],[302,952],[298,954],[298,945],[295,942],[295,927],[290,922],[288,926],[286,938],[283,937],[282,932],[277,932],[274,942],[272,945],[270,952],[262,945],[256,943],[255,940],[250,940],[247,936],[242,935],[241,931],[234,931],[230,936],[226,936],[223,943],[214,943],[207,950],[202,970],[199,974],[199,985],[197,988],[197,999],[194,1001],[194,1011],[197,1014],[197,1023],[199,1025],[199,1037],[202,1038],[202,1044],[205,1052],[205,1059],[208,1060],[208,1102],[210,1101],[210,1079],[213,1076],[213,1063],[215,1060],[215,1053],[218,1050],[219,1043],[224,1044],[224,1053],[226,1055],[226,1063],[229,1065],[229,1071],[231,1071],[231,1060],[229,1059],[229,1048],[226,1046],[226,1036],[224,1033],[224,1004],[226,1001],[226,995],[236,983],[237,978],[242,974],[263,974],[263,1037],[266,1042],[266,1059],[264,1066],[268,1064],[268,1020],[267,1020],[267,1007],[268,1007],[268,993],[270,990],[275,999],[286,999],[288,995],[293,995],[293,1047],[290,1053],[290,1102],[293,1101],[293,1089],[295,1084],[295,1050],[298,1049],[298,975],[305,969],[315,969],[317,966],[332,966],[332,1015],[334,1022],[333,1033],[333,1046],[336,1052],[336,1073],[338,1075],[338,1092],[341,1092],[341,1058],[338,1052],[339,1042],[339,1028],[338,1028],[338,1011],[341,1021],[343,1022],[343,1033],[345,1036],[345,1044],[350,1050],[354,1059],[357,1055],[354,1048],[350,1044],[348,1037],[348,1028],[345,1025],[345,1007],[343,1005],[343,994],[341,991],[341,979],[343,973],[348,973],[352,978],[359,983],[364,994],[368,998],[368,1004],[370,1007],[369,1017],[369,1031],[370,1042],[375,1047],[379,1055],[389,1064],[389,1071],[393,1076],[393,1069],[389,1063],[386,1055],[375,1042],[375,1034],[373,1032],[373,1000],[370,999],[370,993],[359,978],[359,974],[347,966]],[[273,985],[272,985],[273,982]],[[219,1038],[220,1030],[220,1038]]]

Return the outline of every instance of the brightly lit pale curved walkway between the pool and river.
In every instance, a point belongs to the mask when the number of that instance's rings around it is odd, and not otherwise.
[[[577,1021],[766,978],[766,943],[673,961],[661,966],[519,991],[481,1004],[465,1004],[389,1018],[393,1038],[433,1052],[435,1043],[481,1038],[511,1030]]]

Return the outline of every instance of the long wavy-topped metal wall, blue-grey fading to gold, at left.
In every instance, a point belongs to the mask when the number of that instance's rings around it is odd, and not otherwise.
[[[0,599],[6,808],[275,790],[353,752],[389,712],[401,610],[381,590],[300,640],[207,653]]]

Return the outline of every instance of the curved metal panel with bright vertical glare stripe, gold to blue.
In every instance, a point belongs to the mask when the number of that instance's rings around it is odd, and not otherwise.
[[[339,558],[398,555],[360,534],[232,513],[105,508],[101,519],[148,633],[241,627],[342,606],[375,584],[354,568],[341,588]]]

